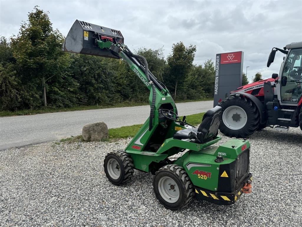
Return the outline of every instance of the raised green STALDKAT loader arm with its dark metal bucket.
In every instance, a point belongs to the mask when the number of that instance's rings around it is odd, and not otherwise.
[[[162,104],[171,104],[173,111],[177,114],[175,102],[168,89],[149,71],[146,59],[138,54],[133,54],[124,44],[124,37],[120,31],[76,20],[66,36],[62,50],[123,59],[150,90],[149,131],[158,124],[158,119],[154,119],[154,116],[157,111],[158,118],[158,110]]]

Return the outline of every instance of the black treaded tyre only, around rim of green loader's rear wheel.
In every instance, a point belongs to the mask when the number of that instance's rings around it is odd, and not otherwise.
[[[172,178],[178,185],[180,190],[179,199],[174,203],[169,203],[163,199],[158,190],[159,179],[169,176]],[[153,181],[153,190],[156,198],[159,202],[164,205],[166,208],[171,210],[182,209],[188,205],[188,203],[193,199],[194,196],[194,186],[186,173],[185,169],[177,165],[167,165],[160,168],[154,177]]]

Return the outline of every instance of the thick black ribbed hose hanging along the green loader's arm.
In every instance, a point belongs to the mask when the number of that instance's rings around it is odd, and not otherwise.
[[[138,54],[133,54],[127,46],[126,46],[126,48],[127,48],[127,51],[129,51],[130,57],[137,58],[137,59],[140,59],[141,61],[143,61],[143,64],[145,65],[145,75],[147,77],[148,82],[151,84],[151,87],[152,87],[152,103],[151,103],[150,117],[149,117],[149,131],[151,131],[151,129],[153,128],[152,121],[154,118],[154,106],[155,106],[155,100],[156,100],[155,85],[149,77],[148,62],[147,62],[146,58],[144,58],[143,56],[138,55]]]

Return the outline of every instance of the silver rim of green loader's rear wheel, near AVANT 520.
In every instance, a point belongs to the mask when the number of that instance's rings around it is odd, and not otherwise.
[[[179,189],[176,182],[169,176],[159,179],[158,191],[167,202],[176,202],[179,199]]]

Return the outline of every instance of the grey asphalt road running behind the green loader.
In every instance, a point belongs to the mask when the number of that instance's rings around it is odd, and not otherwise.
[[[205,112],[213,101],[178,103],[179,115]],[[108,128],[144,123],[149,106],[0,117],[0,150],[77,136],[84,125],[103,121]]]

